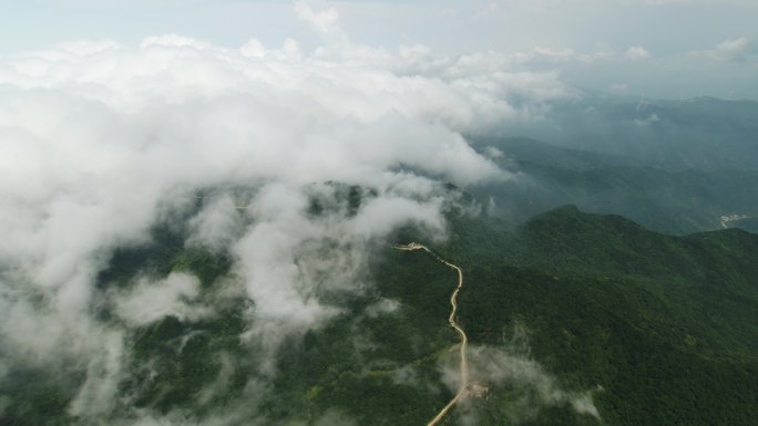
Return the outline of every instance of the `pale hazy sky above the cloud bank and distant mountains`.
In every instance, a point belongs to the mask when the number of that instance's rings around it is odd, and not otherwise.
[[[758,98],[758,2],[751,0],[311,1],[358,44],[438,54],[502,54],[605,93]],[[139,45],[178,34],[237,48],[322,44],[293,2],[263,0],[0,1],[0,54],[80,40]]]

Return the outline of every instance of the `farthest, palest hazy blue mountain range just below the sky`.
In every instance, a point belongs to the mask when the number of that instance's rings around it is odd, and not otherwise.
[[[533,124],[509,127],[553,145],[622,155],[666,169],[758,168],[758,102],[667,101],[584,93]]]

